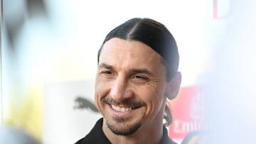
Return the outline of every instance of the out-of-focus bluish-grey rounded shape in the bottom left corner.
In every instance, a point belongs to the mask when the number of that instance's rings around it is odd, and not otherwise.
[[[21,128],[0,125],[1,144],[40,144],[38,140],[23,131]]]

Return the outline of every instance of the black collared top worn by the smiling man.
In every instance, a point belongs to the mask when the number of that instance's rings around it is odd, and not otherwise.
[[[110,144],[110,140],[102,131],[103,118],[100,118],[95,126],[92,128],[85,138],[78,140],[75,144]],[[168,136],[166,128],[163,127],[163,138],[161,138],[160,144],[176,144]]]

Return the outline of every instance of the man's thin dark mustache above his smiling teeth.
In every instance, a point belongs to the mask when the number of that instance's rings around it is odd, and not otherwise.
[[[107,104],[112,104],[112,105],[124,105],[124,106],[129,106],[129,107],[139,107],[139,106],[146,106],[146,103],[144,101],[134,101],[134,100],[127,100],[127,101],[115,101],[111,97],[104,97],[102,99],[103,102]]]

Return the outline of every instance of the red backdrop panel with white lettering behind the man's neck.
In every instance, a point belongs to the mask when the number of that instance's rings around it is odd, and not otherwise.
[[[201,87],[181,87],[176,99],[167,104],[174,118],[169,136],[182,139],[192,131],[206,130],[205,96]]]

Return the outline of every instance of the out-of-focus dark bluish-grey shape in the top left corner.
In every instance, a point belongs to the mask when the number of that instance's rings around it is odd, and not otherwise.
[[[3,0],[3,24],[10,48],[15,52],[16,39],[27,18],[48,18],[48,11],[44,0],[22,0],[18,4],[12,4],[14,2],[16,1]]]

